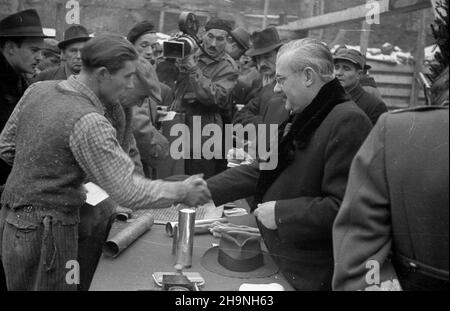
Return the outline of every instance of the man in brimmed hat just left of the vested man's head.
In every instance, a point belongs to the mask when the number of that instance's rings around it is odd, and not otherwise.
[[[62,63],[59,67],[42,71],[36,77],[36,81],[66,80],[70,75],[77,75],[81,70],[81,50],[89,33],[82,25],[71,25],[64,32],[64,40],[57,47],[61,50]]]

